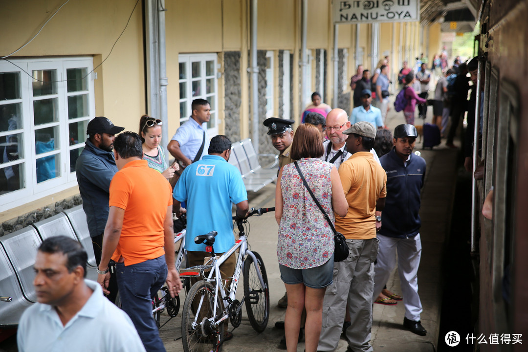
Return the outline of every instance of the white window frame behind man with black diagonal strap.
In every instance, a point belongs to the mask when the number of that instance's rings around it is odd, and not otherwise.
[[[214,72],[212,75],[206,75],[205,71],[205,62],[206,61],[213,61],[213,67]],[[200,62],[201,67],[201,73],[202,75],[199,78],[192,78],[192,63],[193,62]],[[209,136],[216,136],[219,133],[219,126],[220,126],[220,118],[219,118],[219,103],[218,103],[218,54],[210,53],[210,54],[180,54],[178,55],[178,63],[185,63],[185,78],[180,79],[179,83],[185,84],[186,89],[186,96],[182,99],[180,99],[180,104],[182,102],[186,102],[187,106],[182,116],[180,116],[180,125],[188,121],[189,117],[191,116],[192,109],[191,104],[194,99],[205,99],[211,103],[211,121],[208,123],[208,135]],[[180,72],[181,77],[181,72]],[[214,79],[213,88],[214,91],[211,93],[207,93],[206,90],[206,82],[208,79]],[[204,87],[204,92],[197,94],[196,96],[192,96],[193,81],[200,81],[201,87]],[[181,92],[180,92],[181,96]],[[213,100],[211,100],[211,97]]]

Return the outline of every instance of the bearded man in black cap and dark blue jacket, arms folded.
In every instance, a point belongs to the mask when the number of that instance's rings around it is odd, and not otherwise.
[[[106,117],[99,116],[91,120],[86,130],[88,139],[76,164],[82,208],[86,213],[97,265],[101,260],[102,234],[105,232],[108,218],[110,181],[117,173],[116,161],[112,153],[114,138],[124,129],[124,127],[114,126],[114,123]],[[111,296],[108,298],[114,302],[117,293],[117,282],[114,275],[110,279],[110,286]]]

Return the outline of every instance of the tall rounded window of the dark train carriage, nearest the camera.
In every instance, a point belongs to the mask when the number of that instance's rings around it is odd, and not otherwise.
[[[494,255],[493,296],[497,305],[496,319],[511,317],[510,292],[513,286],[515,247],[515,198],[518,145],[518,91],[501,81],[497,120],[495,191],[493,210]]]

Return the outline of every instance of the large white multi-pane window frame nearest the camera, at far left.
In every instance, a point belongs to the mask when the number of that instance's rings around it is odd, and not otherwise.
[[[69,125],[73,122],[89,121],[95,117],[95,94],[93,85],[93,75],[87,77],[87,90],[82,92],[68,93],[67,89],[67,70],[68,69],[86,69],[86,72],[93,70],[93,60],[90,56],[72,57],[72,58],[41,58],[41,59],[10,59],[15,65],[10,62],[0,62],[0,72],[18,73],[20,78],[20,97],[16,100],[0,101],[0,107],[3,104],[22,103],[21,122],[22,128],[14,131],[0,132],[0,137],[14,133],[22,133],[23,141],[19,148],[23,150],[24,157],[18,160],[10,161],[9,163],[0,164],[0,172],[3,172],[4,166],[12,166],[16,164],[24,164],[24,175],[22,177],[24,188],[17,191],[7,192],[0,195],[0,212],[10,210],[13,207],[20,206],[26,203],[35,201],[36,199],[49,196],[51,194],[63,191],[70,187],[77,185],[77,176],[75,172],[70,172],[70,150],[84,147],[86,141],[86,131],[81,136],[76,144],[69,145]],[[18,66],[18,67],[17,67]],[[33,97],[31,77],[33,70],[56,70],[56,93],[45,97]],[[24,72],[25,71],[25,72]],[[27,73],[26,73],[27,72]],[[28,74],[29,73],[29,74]],[[86,116],[69,119],[68,117],[68,96],[76,94],[88,94],[87,112]],[[58,121],[45,123],[35,127],[33,101],[56,98],[57,106],[56,113]],[[39,154],[35,153],[35,130],[45,127],[57,127],[57,135],[59,146],[52,151]],[[59,155],[60,164],[56,167],[60,170],[60,175],[45,180],[37,184],[36,182],[36,160],[45,156]]]

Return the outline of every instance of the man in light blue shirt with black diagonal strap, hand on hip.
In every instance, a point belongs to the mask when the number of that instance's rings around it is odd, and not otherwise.
[[[209,149],[207,125],[204,123],[211,119],[211,105],[205,99],[194,99],[191,109],[191,117],[176,130],[167,146],[169,153],[183,167],[200,160]]]

